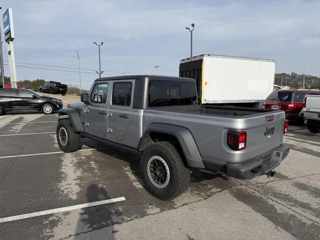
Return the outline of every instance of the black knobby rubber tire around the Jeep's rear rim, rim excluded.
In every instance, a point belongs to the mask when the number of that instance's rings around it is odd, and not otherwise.
[[[169,181],[165,187],[155,186],[148,176],[147,165],[152,156],[161,157],[169,169]],[[161,200],[170,200],[182,194],[190,182],[190,169],[184,166],[182,154],[167,141],[159,141],[147,146],[140,158],[140,170],[145,188]]]

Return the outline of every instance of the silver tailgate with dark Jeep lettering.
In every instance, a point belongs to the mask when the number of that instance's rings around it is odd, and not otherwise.
[[[248,117],[244,159],[250,159],[277,147],[283,138],[284,111]]]

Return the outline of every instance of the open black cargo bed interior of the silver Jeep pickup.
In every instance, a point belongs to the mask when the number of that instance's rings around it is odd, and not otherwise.
[[[149,109],[160,111],[187,112],[196,114],[222,115],[232,117],[246,117],[259,113],[275,111],[272,109],[233,107],[233,106],[213,106],[213,105],[180,105],[180,106],[162,106]]]

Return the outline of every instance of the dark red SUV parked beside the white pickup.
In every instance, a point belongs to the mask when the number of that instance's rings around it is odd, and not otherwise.
[[[265,99],[263,108],[284,110],[285,119],[296,120],[299,124],[304,123],[303,115],[299,116],[303,108],[305,94],[315,92],[307,89],[275,90]]]

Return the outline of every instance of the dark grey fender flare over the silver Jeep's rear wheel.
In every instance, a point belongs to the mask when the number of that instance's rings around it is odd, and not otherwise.
[[[196,146],[191,132],[187,128],[165,123],[151,123],[145,129],[140,139],[138,150],[143,150],[145,141],[149,139],[149,133],[151,132],[164,133],[174,136],[180,144],[188,166],[204,168],[198,147]]]

